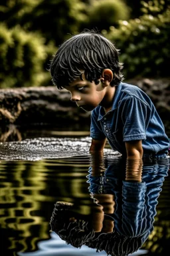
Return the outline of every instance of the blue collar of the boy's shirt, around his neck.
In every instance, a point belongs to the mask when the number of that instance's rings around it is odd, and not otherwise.
[[[119,85],[116,85],[116,91],[114,94],[112,109],[110,111],[108,111],[108,113],[110,113],[118,108],[118,102],[120,101],[120,97],[121,97],[121,93],[120,93],[121,90],[122,90],[122,83],[120,83]],[[100,121],[103,117],[108,115],[108,113],[105,113],[104,107],[99,106],[98,121]]]

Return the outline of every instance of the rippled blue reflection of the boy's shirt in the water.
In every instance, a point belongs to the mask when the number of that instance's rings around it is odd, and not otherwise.
[[[114,161],[104,175],[96,177],[92,176],[90,167],[87,176],[89,191],[94,197],[100,193],[115,196],[114,229],[125,237],[138,237],[137,243],[142,245],[153,231],[157,199],[169,170],[169,159],[143,163],[141,183],[122,180],[125,171],[122,166],[121,160]]]

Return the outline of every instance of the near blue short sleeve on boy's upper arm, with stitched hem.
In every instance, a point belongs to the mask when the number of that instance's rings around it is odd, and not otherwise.
[[[128,96],[122,109],[123,140],[133,141],[146,139],[146,127],[149,106],[135,96]]]

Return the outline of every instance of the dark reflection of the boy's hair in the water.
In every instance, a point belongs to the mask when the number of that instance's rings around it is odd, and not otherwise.
[[[108,255],[126,256],[141,247],[141,237],[125,237],[117,231],[112,233],[95,233],[89,221],[70,218],[76,213],[72,211],[72,204],[57,202],[50,219],[50,227],[66,243],[80,248],[86,245],[96,251],[106,251]]]

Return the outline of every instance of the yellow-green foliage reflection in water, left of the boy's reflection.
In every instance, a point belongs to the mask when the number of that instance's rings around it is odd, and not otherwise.
[[[88,214],[87,171],[87,159],[1,161],[0,252],[33,251],[38,241],[49,239],[56,201],[75,203],[81,197],[81,210]]]

